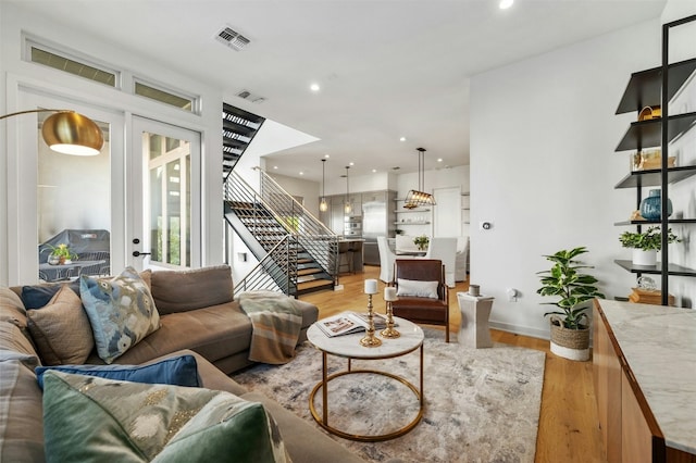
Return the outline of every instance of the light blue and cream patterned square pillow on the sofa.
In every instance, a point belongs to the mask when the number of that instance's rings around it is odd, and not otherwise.
[[[150,289],[133,267],[126,267],[113,278],[83,275],[79,292],[97,353],[107,363],[160,327],[160,314]]]

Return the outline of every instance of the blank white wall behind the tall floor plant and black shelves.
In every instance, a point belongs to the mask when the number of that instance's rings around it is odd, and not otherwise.
[[[614,148],[635,114],[614,115],[631,73],[659,64],[651,21],[472,78],[471,230],[473,284],[494,296],[492,325],[548,337],[548,306],[536,295],[543,254],[586,246],[585,262],[608,298],[627,296],[634,277],[620,227],[634,190],[614,190],[629,154]],[[508,302],[506,288],[521,292]]]

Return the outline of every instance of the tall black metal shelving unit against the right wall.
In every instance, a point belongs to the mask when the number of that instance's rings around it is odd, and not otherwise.
[[[661,210],[667,211],[669,201],[669,185],[686,180],[696,175],[696,166],[668,167],[670,143],[689,133],[696,127],[696,113],[670,115],[669,102],[696,72],[696,58],[678,63],[669,62],[670,30],[673,27],[696,21],[696,15],[687,16],[662,25],[662,65],[646,71],[633,73],[626,89],[617,108],[617,114],[632,111],[641,112],[646,107],[661,107],[661,117],[639,121],[631,124],[625,135],[617,146],[616,151],[643,150],[660,147],[661,168],[631,172],[623,177],[614,188],[636,188],[636,205],[639,209],[642,188],[659,186],[661,189]],[[692,84],[694,85],[694,84]],[[660,221],[622,221],[614,225],[634,225],[641,230],[643,225],[660,225],[667,230],[670,224],[696,224],[696,218],[668,218],[662,214]],[[636,266],[631,261],[614,261],[622,268],[641,274],[661,276],[662,305],[668,305],[669,277],[696,277],[696,271],[669,262],[668,234],[662,233],[660,265]]]

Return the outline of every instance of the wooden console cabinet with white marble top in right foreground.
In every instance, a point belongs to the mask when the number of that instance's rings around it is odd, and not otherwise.
[[[593,325],[595,392],[607,462],[696,463],[696,346],[670,354],[679,341],[664,339],[674,327],[685,329],[681,335],[696,333],[696,312],[598,300]]]

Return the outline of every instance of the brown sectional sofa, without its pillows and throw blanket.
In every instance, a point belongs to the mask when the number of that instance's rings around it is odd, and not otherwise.
[[[161,328],[133,346],[114,363],[147,364],[189,353],[196,356],[202,387],[261,402],[277,423],[293,462],[361,462],[316,426],[285,410],[272,398],[249,392],[227,374],[248,366],[251,324],[232,299],[229,267],[154,272],[150,281]],[[22,287],[10,288],[22,295]],[[41,390],[34,367],[41,364],[27,329],[24,306],[0,288],[0,461],[45,460]],[[299,302],[299,301],[298,301]],[[316,320],[316,306],[301,302],[302,330]],[[95,352],[87,363],[103,363]]]

